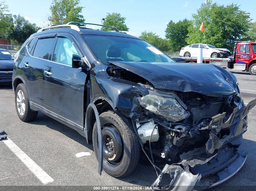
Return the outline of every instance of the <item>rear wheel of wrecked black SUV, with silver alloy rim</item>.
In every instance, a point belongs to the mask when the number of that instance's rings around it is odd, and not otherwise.
[[[18,84],[15,91],[16,112],[20,120],[32,121],[37,117],[38,112],[30,109],[28,92],[24,84]]]

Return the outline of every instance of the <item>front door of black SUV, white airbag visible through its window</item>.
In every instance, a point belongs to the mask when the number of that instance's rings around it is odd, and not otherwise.
[[[88,69],[72,68],[72,55],[84,56],[77,40],[58,33],[52,61],[45,65],[45,109],[55,117],[83,129],[84,89]]]

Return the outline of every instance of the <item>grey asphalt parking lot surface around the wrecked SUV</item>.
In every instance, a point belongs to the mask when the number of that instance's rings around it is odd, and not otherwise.
[[[238,79],[244,102],[254,99],[256,76],[229,71]],[[0,129],[5,129],[8,138],[53,179],[47,186],[150,186],[155,181],[155,170],[143,161],[134,173],[125,178],[114,178],[104,171],[98,175],[93,147],[84,137],[42,113],[33,122],[22,122],[16,114],[14,101],[12,87],[1,86]],[[234,177],[223,184],[225,186],[256,186],[255,113],[256,108],[253,108],[248,114],[248,131],[240,147],[248,152],[247,161]],[[79,152],[90,152],[91,155],[77,158],[75,154]],[[44,185],[3,141],[0,141],[0,156],[0,186]]]

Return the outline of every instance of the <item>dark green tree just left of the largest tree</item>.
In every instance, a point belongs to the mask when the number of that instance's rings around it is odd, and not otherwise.
[[[170,49],[180,51],[181,47],[187,45],[188,27],[191,21],[188,19],[180,20],[177,23],[172,20],[167,24],[165,29],[165,37],[169,40]]]

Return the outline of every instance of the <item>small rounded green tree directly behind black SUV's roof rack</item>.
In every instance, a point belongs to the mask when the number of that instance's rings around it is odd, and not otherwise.
[[[105,21],[103,21],[103,25],[116,27],[118,30],[128,31],[129,28],[125,24],[125,17],[121,17],[120,13],[107,13]],[[108,27],[102,27],[102,30],[113,30]]]

